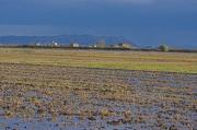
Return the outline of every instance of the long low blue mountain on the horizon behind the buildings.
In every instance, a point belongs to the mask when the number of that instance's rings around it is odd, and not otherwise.
[[[93,36],[93,35],[58,35],[58,36],[0,36],[1,45],[31,45],[31,44],[51,44],[53,42],[60,45],[79,43],[81,46],[93,45],[100,40],[105,40],[106,45],[117,43],[129,43],[130,40],[123,36]]]

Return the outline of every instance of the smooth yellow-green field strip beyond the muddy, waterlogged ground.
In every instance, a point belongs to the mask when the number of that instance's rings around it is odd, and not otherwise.
[[[0,62],[197,73],[197,54],[0,48]]]

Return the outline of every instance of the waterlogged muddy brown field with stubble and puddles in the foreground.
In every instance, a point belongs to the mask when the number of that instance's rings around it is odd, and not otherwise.
[[[197,74],[0,63],[0,129],[197,126]]]

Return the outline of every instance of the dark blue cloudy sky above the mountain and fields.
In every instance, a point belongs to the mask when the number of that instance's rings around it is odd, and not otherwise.
[[[197,0],[0,0],[0,36],[63,34],[197,48]]]

